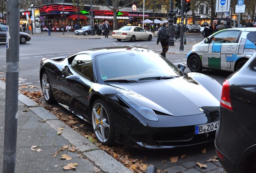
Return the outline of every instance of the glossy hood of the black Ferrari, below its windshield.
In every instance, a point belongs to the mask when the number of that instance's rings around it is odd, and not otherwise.
[[[167,115],[198,115],[219,109],[219,99],[191,78],[110,85],[139,105]]]

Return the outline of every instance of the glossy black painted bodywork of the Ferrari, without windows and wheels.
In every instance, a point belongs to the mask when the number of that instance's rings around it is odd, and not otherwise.
[[[114,51],[116,50],[103,49],[100,54]],[[99,54],[99,52],[94,50],[88,51],[87,53],[92,57]],[[69,64],[72,60],[69,58],[74,57],[74,55],[76,54],[64,58],[63,60],[43,60],[40,66],[40,78],[43,71],[46,71],[49,75],[52,91],[57,103],[68,106],[68,108],[66,107],[68,110],[88,122],[91,122],[92,104],[96,99],[101,98],[109,106],[111,116],[114,117],[114,131],[115,139],[117,141],[122,141],[131,145],[136,143],[142,147],[159,149],[190,146],[214,140],[215,131],[207,133],[207,135],[194,135],[195,125],[219,120],[221,86],[212,78],[199,73],[189,73],[184,74],[184,76],[180,76],[179,78],[140,82],[136,84],[129,83],[128,85],[118,82],[99,84],[97,83],[96,75],[94,76],[93,81],[89,81],[78,76],[76,72],[70,68]],[[95,61],[93,60],[93,64],[94,63]],[[95,65],[93,65],[93,70],[97,71]],[[197,78],[198,81],[194,80],[194,78]],[[171,84],[167,83],[172,81],[172,84],[175,84],[178,88],[178,82],[183,80],[184,82],[180,85],[180,89],[184,87],[183,91],[185,90],[188,94],[194,92],[193,99],[196,103],[190,102],[189,104],[198,104],[202,108],[205,106],[203,101],[200,101],[200,99],[203,98],[198,98],[196,94],[205,92],[202,91],[202,86],[205,86],[212,88],[213,97],[211,97],[212,100],[209,100],[209,103],[211,103],[210,105],[213,105],[213,107],[205,108],[205,112],[199,111],[199,109],[193,109],[192,111],[192,107],[190,107],[188,103],[182,101],[186,100],[182,95],[180,96],[184,98],[182,99],[180,97],[181,100],[173,100],[169,97],[169,105],[173,104],[172,106],[176,107],[176,110],[173,110],[173,113],[165,111],[163,107],[159,106],[164,104],[164,102],[166,107],[168,105],[166,104],[166,100],[162,97],[163,95],[166,95],[164,91],[168,91],[171,88]],[[186,84],[189,84],[189,89],[186,87]],[[140,87],[138,87],[138,85]],[[152,88],[150,93],[143,91],[145,87],[149,86]],[[159,121],[154,122],[145,119],[116,95],[117,93],[129,93],[127,96],[138,102],[140,105],[147,107],[153,106],[153,111],[155,111]],[[158,99],[159,103],[150,103],[150,99],[145,99],[144,101],[136,100],[136,97],[133,97],[134,93],[136,95],[140,94],[145,98],[148,98],[151,95],[151,99],[155,97],[155,99]],[[170,91],[169,95],[171,96],[171,94],[174,95],[175,93],[171,93]],[[177,94],[179,95],[180,92],[177,92]],[[205,95],[205,97],[207,97],[207,95]],[[184,111],[184,105],[186,105],[188,109],[186,115],[182,116],[178,113],[181,110]],[[193,112],[192,114],[191,111]],[[172,125],[175,127],[171,127]],[[176,127],[178,128],[176,129]],[[182,136],[177,137],[177,133],[180,132],[182,132]],[[167,136],[163,136],[163,134],[166,134]],[[160,136],[162,138],[159,138]],[[182,137],[185,136],[187,137],[182,139]]]

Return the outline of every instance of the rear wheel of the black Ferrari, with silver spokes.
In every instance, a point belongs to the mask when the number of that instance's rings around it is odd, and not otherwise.
[[[52,86],[46,72],[43,72],[41,78],[41,88],[45,101],[49,104],[55,103],[55,99],[52,94]]]

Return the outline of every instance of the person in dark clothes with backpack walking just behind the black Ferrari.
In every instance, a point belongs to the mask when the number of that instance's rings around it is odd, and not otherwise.
[[[158,37],[157,37],[157,45],[159,44],[159,41],[161,42],[162,46],[162,53],[161,55],[165,57],[166,52],[169,49],[169,28],[167,28],[167,23],[163,23],[163,28],[159,31]],[[165,57],[166,58],[166,57]]]

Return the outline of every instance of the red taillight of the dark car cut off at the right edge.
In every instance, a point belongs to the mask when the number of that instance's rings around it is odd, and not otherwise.
[[[229,93],[229,81],[227,79],[223,82],[221,92],[221,106],[232,111],[231,98]]]

